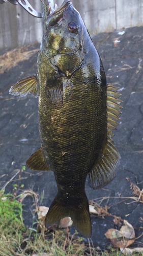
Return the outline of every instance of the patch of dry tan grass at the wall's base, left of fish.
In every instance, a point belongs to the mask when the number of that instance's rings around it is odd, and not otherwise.
[[[35,52],[38,52],[39,50],[28,50],[29,47],[30,45],[24,46],[20,49],[14,49],[0,56],[0,74],[8,71],[11,67],[17,66],[20,61],[29,59]]]

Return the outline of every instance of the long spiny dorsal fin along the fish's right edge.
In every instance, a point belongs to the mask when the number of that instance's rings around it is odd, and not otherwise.
[[[116,92],[118,89],[111,84],[107,86],[107,137],[103,143],[101,154],[89,173],[89,185],[93,189],[102,188],[115,178],[120,164],[120,154],[111,139],[114,136],[111,131],[119,125],[117,121],[120,119],[118,117],[121,114],[119,110],[122,108],[119,105],[122,100],[118,99],[121,94]]]

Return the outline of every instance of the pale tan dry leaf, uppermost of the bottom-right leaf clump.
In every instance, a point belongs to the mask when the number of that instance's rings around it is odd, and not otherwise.
[[[133,226],[126,220],[124,220],[124,226],[120,229],[120,234],[122,234],[123,237],[132,239],[135,237],[134,228]]]

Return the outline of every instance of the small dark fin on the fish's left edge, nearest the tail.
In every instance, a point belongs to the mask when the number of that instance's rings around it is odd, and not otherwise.
[[[32,154],[32,156],[27,160],[26,165],[32,170],[50,170],[44,159],[42,147]]]

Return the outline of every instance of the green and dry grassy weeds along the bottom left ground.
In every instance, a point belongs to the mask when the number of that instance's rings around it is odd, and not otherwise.
[[[17,197],[11,194],[4,194],[0,191],[0,248],[1,256],[119,256],[121,251],[109,247],[106,251],[86,246],[82,238],[71,235],[63,230],[54,232],[44,227],[41,220],[33,218],[31,228],[26,228],[22,218],[22,201],[26,196],[34,199],[35,213],[38,210],[38,203],[44,197],[44,191],[39,199],[32,190],[25,190]],[[44,254],[45,253],[45,254]],[[132,255],[141,256],[142,253]]]

